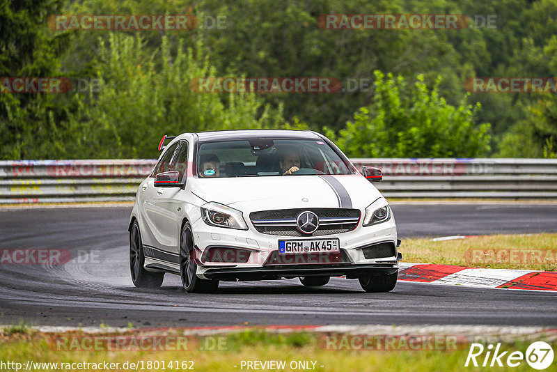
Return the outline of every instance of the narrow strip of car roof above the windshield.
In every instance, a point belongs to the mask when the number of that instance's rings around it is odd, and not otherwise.
[[[216,130],[213,132],[196,133],[200,142],[230,141],[234,139],[320,139],[315,132],[309,130]]]

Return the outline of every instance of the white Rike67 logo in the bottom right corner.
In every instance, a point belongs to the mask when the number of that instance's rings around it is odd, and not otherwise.
[[[497,343],[495,348],[492,343],[490,343],[487,348],[481,343],[472,343],[464,366],[517,367],[526,360],[526,363],[533,369],[542,370],[551,366],[553,359],[553,348],[551,348],[549,343],[544,341],[531,343],[526,349],[526,353],[521,351],[513,351],[510,353],[509,351],[501,351],[501,343]]]

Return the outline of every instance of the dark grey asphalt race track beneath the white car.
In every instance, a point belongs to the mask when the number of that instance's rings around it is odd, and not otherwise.
[[[68,249],[64,265],[0,265],[0,324],[195,327],[205,325],[489,324],[557,325],[557,293],[399,281],[365,293],[333,278],[322,288],[297,279],[221,283],[191,295],[166,274],[162,288],[134,288],[128,268],[131,207],[0,208],[0,249]],[[557,231],[557,204],[395,203],[401,251],[414,236]]]

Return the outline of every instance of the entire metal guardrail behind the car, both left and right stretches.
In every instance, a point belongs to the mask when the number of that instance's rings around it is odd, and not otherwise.
[[[155,160],[0,162],[0,204],[133,201]],[[557,199],[557,160],[352,159],[388,198]]]

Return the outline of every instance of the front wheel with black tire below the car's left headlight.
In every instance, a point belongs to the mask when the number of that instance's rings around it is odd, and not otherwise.
[[[201,279],[197,276],[194,233],[189,222],[182,227],[180,235],[180,277],[187,293],[212,293],[219,287],[218,280]]]

